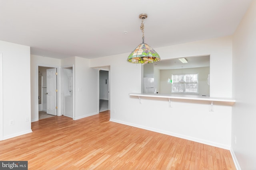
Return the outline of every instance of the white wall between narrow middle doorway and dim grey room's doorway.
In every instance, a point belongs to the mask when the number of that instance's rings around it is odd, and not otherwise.
[[[89,64],[89,59],[75,57],[74,119],[98,113],[98,70],[89,68]]]

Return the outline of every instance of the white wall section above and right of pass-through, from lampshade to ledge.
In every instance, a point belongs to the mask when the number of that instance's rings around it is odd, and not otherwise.
[[[210,55],[210,95],[232,97],[231,36],[161,47],[157,52],[161,59]]]

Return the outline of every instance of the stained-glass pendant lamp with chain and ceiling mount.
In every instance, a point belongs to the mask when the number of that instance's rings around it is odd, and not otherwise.
[[[139,18],[142,20],[140,29],[142,31],[142,43],[130,53],[127,61],[129,63],[146,64],[160,61],[160,56],[154,49],[144,43],[144,19],[148,17],[147,14],[140,14]]]

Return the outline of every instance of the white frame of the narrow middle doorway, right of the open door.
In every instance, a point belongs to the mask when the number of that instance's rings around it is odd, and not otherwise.
[[[63,69],[64,68],[71,68],[72,67],[72,71],[73,71],[73,119],[75,117],[75,96],[76,96],[76,90],[75,90],[75,68],[74,68],[74,64],[70,64],[70,65],[65,65],[65,66],[61,66],[61,71],[63,73]],[[63,74],[62,74],[62,77],[61,77],[61,84],[62,84],[62,87],[63,87]],[[64,96],[63,96],[63,88],[62,88],[62,91],[61,91],[61,99],[62,99],[62,115],[63,115],[63,110],[64,110],[64,105],[63,105],[63,101],[64,101]]]

